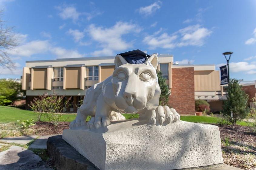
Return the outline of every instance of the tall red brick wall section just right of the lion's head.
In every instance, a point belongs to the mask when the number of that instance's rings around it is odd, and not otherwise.
[[[195,113],[194,68],[172,68],[172,88],[169,105],[179,114]]]

